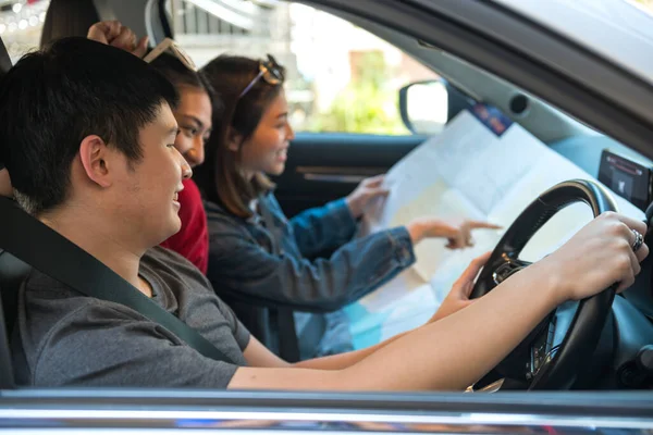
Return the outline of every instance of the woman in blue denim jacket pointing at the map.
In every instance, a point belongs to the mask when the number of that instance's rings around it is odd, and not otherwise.
[[[272,192],[268,175],[285,167],[294,138],[283,90],[283,69],[266,62],[222,55],[204,72],[220,97],[215,134],[207,145],[207,164],[196,179],[208,202],[209,278],[230,300],[238,318],[252,327],[251,307],[238,295],[272,306],[330,312],[387,282],[415,261],[414,246],[427,237],[444,237],[447,247],[471,245],[473,228],[484,222],[452,225],[433,219],[415,221],[354,239],[367,204],[386,194],[382,177],[367,179],[347,198],[287,220]],[[333,252],[328,259],[318,258]],[[259,316],[260,318],[260,316]],[[301,359],[352,350],[344,312],[297,315]],[[278,348],[275,326],[267,345]]]

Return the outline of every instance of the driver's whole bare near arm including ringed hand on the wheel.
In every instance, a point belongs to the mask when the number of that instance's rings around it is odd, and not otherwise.
[[[632,252],[630,228],[642,234],[646,229],[641,222],[606,213],[466,309],[398,337],[344,369],[241,368],[229,387],[463,389],[494,368],[559,303],[590,297],[617,282],[619,290],[630,286],[649,252],[645,246]]]

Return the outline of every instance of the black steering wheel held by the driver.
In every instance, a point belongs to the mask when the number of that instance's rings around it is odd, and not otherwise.
[[[594,217],[616,210],[611,196],[592,182],[574,179],[546,190],[528,206],[498,241],[479,275],[471,298],[492,291],[501,282],[527,268],[530,263],[519,260],[526,244],[553,215],[576,202],[590,206]],[[556,314],[563,310],[569,312],[568,307],[558,307],[495,370],[503,377],[521,381],[528,389],[568,389],[596,349],[615,289],[616,285],[581,300],[562,343],[553,347]]]

